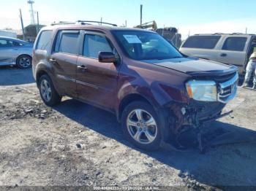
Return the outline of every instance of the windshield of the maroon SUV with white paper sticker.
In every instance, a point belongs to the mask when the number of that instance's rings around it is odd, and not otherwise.
[[[181,55],[170,42],[159,34],[149,31],[113,31],[121,48],[135,60],[162,60],[181,58]]]

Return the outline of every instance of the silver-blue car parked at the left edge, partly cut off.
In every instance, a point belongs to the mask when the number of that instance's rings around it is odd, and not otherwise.
[[[19,39],[0,36],[0,66],[31,68],[33,44]]]

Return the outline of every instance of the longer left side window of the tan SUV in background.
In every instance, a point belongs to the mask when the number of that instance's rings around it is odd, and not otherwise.
[[[213,49],[220,36],[190,36],[182,47]]]

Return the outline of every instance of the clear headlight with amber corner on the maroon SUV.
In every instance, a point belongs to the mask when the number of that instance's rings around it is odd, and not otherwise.
[[[186,87],[189,98],[197,101],[217,101],[217,85],[214,81],[190,80]]]

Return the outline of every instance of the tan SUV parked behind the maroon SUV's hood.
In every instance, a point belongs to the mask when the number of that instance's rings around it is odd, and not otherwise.
[[[180,51],[190,57],[238,66],[243,74],[254,47],[255,34],[195,34],[181,44]]]

